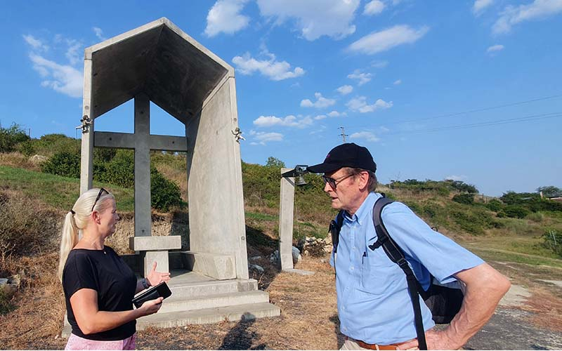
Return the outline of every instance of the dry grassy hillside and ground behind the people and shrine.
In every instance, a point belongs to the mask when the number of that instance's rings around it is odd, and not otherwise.
[[[70,138],[59,135],[44,140],[24,141],[32,145],[32,154],[26,154],[25,147],[22,147],[25,144],[21,143],[11,152],[0,152],[0,277],[17,277],[20,281],[20,288],[14,295],[0,293],[0,330],[4,330],[0,332],[0,341],[6,348],[60,348],[64,345],[55,338],[62,327],[64,313],[64,299],[55,278],[55,267],[61,220],[79,194],[79,179],[75,177],[76,173],[70,172],[74,170],[72,165],[76,161],[72,154],[75,155],[79,150],[74,149],[76,151],[71,152],[70,156],[67,153],[66,157],[58,159],[58,163],[53,164],[53,159],[57,159],[56,155],[60,155],[60,152],[67,152],[68,145],[76,146],[75,140],[67,139]],[[35,152],[40,152],[46,159],[35,157]],[[102,150],[96,159],[105,162],[103,170],[106,173],[103,176],[98,173],[103,180],[95,180],[94,186],[105,187],[115,194],[117,209],[122,217],[117,232],[107,240],[107,244],[118,253],[131,253],[128,238],[133,236],[133,189],[120,178],[123,173],[114,176],[119,178],[118,182],[107,181],[112,179],[112,173],[107,170],[119,171],[120,167],[130,167],[127,164],[130,157],[126,152]],[[161,203],[152,201],[153,234],[181,235],[185,248],[188,246],[189,226],[187,179],[183,171],[185,156],[153,152],[151,160],[159,177],[168,182],[161,184],[177,190],[169,196],[181,199],[166,209],[157,208]],[[60,170],[70,173],[67,176],[48,173],[44,165],[49,161],[55,166],[51,168],[55,170],[54,173]],[[297,265],[318,272],[314,277],[307,278],[311,284],[307,287],[300,286],[301,277],[287,276],[269,262],[270,254],[277,249],[282,166],[282,161],[273,157],[268,159],[265,166],[242,162],[248,256],[259,257],[252,263],[265,268],[263,273],[251,270],[250,274],[259,281],[260,289],[270,291],[272,301],[282,306],[286,313],[282,318],[296,321],[295,329],[287,333],[299,333],[302,331],[299,328],[311,323],[328,323],[333,328],[337,324],[337,317],[334,316],[333,275],[327,265],[327,256],[305,257]],[[326,237],[327,223],[336,213],[329,207],[329,200],[322,191],[322,179],[313,174],[307,174],[305,179],[308,185],[298,187],[295,194],[295,245],[303,237]],[[457,240],[508,274],[514,282],[523,284],[525,289],[540,296],[543,305],[525,308],[535,311],[532,313],[540,312],[544,321],[548,322],[529,319],[535,321],[532,325],[546,324],[549,329],[562,331],[562,320],[556,317],[562,313],[562,301],[554,298],[558,290],[556,285],[544,285],[544,282],[562,281],[562,211],[558,204],[540,199],[538,194],[507,192],[504,197],[493,199],[478,194],[472,185],[452,181],[395,181],[379,185],[377,190],[404,202],[438,232]],[[524,272],[531,275],[527,277]],[[300,301],[295,300],[297,296]],[[310,305],[303,304],[303,300],[308,298],[312,299]],[[329,305],[323,303],[325,300],[329,300]],[[295,309],[295,304],[300,309]],[[279,327],[275,324],[278,323],[283,324],[276,320],[265,320],[256,322],[256,326],[277,330]],[[198,328],[194,326],[190,331],[196,334],[203,332],[203,329]],[[226,324],[214,328],[231,330],[235,326]],[[6,333],[7,330],[12,333]],[[143,335],[150,338],[151,333],[148,331]],[[154,333],[162,336],[166,332]],[[263,332],[262,335],[263,340],[277,338],[269,332]],[[197,336],[190,334],[189,338]],[[337,339],[329,340],[325,342],[311,337],[307,345],[309,348],[336,347],[334,343]],[[144,345],[164,348],[184,345],[182,340],[176,341],[173,345],[146,344],[145,341]],[[202,340],[190,345],[218,347]],[[271,347],[290,349],[297,345],[298,338],[292,343],[273,343]]]

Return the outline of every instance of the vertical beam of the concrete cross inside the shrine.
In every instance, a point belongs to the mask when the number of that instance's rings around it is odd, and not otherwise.
[[[150,237],[150,100],[135,96],[135,236]]]

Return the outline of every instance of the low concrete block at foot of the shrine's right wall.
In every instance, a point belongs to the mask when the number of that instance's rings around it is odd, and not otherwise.
[[[199,272],[218,280],[236,277],[234,255],[183,251],[182,258],[185,268],[193,272]]]

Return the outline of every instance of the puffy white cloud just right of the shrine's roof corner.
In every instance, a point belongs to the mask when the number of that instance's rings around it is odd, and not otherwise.
[[[291,70],[291,65],[287,61],[276,61],[275,55],[272,53],[268,53],[268,56],[268,60],[256,60],[249,53],[245,53],[243,56],[235,56],[233,63],[241,74],[260,72],[272,81],[300,77],[305,73],[305,70],[301,67],[295,67]]]

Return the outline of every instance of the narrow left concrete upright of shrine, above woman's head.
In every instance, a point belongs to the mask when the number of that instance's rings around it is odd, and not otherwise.
[[[80,156],[80,194],[92,187],[93,118],[91,117],[92,60],[84,59],[84,96],[82,98],[82,135]]]

